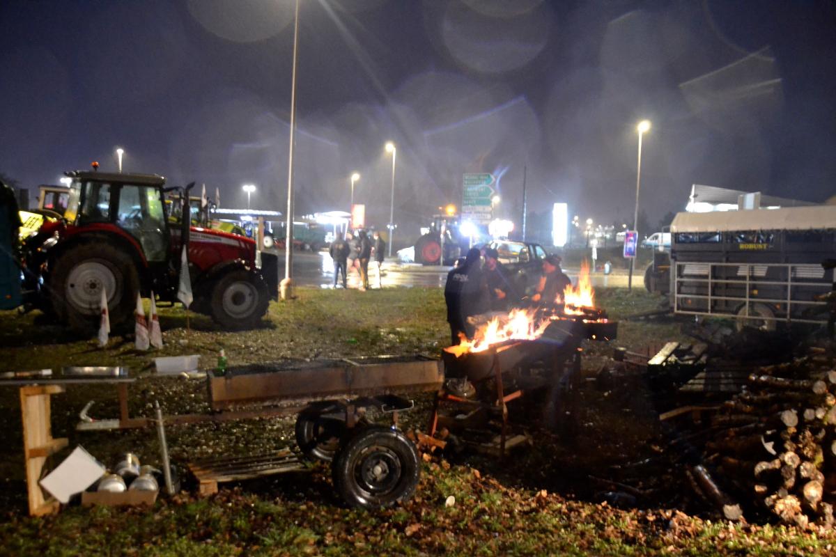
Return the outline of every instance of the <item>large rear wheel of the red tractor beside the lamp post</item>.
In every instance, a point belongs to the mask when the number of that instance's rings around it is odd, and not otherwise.
[[[102,291],[107,298],[110,327],[130,319],[140,290],[134,261],[109,244],[80,244],[54,261],[50,293],[54,311],[79,332],[92,332],[101,317]]]

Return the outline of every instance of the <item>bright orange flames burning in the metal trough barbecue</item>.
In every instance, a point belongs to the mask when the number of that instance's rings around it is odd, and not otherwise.
[[[542,308],[512,309],[507,315],[494,316],[477,328],[472,341],[462,337],[461,344],[444,350],[461,357],[469,352],[484,352],[502,342],[537,340],[549,324],[559,319],[584,317],[584,322],[607,322],[603,312],[595,309],[594,290],[586,261],[581,266],[578,285],[567,286],[555,302],[558,304],[556,311],[544,311]]]

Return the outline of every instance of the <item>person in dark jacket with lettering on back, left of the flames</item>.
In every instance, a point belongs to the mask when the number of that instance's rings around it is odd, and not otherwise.
[[[450,323],[451,344],[461,343],[460,335],[472,339],[475,332],[467,317],[478,315],[485,309],[487,283],[480,269],[480,252],[472,248],[461,266],[447,274],[444,300],[447,303],[447,322]]]

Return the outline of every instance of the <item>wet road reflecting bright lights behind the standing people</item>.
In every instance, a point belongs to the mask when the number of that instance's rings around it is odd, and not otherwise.
[[[369,283],[376,288],[382,281],[383,286],[444,286],[449,267],[421,266],[386,261],[382,267],[382,276],[378,274],[374,261],[369,264]],[[577,284],[578,270],[564,270],[569,278]],[[284,276],[284,253],[279,253],[279,276]],[[349,269],[349,288],[359,286],[359,271]],[[293,254],[293,280],[298,285],[320,286],[331,288],[334,286],[334,264],[325,251],[319,253],[296,252]],[[634,276],[635,287],[644,288],[643,276]],[[593,286],[626,287],[626,274],[592,276]]]

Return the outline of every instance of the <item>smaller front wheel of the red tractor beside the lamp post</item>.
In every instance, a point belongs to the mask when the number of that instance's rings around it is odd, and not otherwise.
[[[226,329],[252,329],[269,303],[263,279],[243,269],[228,272],[212,287],[212,319]]]

